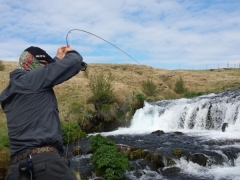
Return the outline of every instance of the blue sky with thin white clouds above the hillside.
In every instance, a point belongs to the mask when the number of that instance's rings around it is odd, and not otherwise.
[[[240,0],[0,0],[0,59],[68,44],[86,63],[240,66]],[[82,31],[95,34],[112,43]],[[129,57],[130,56],[130,57]]]

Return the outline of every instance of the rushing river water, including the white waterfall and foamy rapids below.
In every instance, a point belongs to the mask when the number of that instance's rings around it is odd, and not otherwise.
[[[134,114],[129,128],[101,133],[117,144],[171,156],[174,148],[186,153],[203,153],[207,165],[200,166],[186,158],[176,159],[180,172],[164,174],[161,169],[141,166],[141,160],[131,162],[134,168],[125,173],[125,179],[240,179],[240,90],[209,94],[192,99],[163,100],[147,103]],[[225,132],[222,125],[227,123]],[[163,130],[161,136],[151,134]],[[176,136],[176,131],[183,135]],[[83,148],[88,138],[79,141]],[[72,164],[83,163],[85,157],[74,157]],[[75,164],[75,165],[74,165]],[[80,165],[81,166],[81,165]],[[166,166],[167,167],[167,166]],[[78,167],[79,168],[79,167]],[[85,169],[84,169],[85,168]],[[80,167],[80,173],[91,171],[91,165]],[[93,179],[88,176],[88,179]]]

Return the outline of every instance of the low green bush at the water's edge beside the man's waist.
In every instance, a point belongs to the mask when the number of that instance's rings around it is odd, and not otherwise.
[[[62,137],[65,144],[86,137],[76,122],[61,122]]]

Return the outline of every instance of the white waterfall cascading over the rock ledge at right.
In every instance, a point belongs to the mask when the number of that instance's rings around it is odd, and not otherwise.
[[[209,94],[193,99],[145,102],[136,111],[129,129],[152,130],[221,130],[240,131],[240,90]]]

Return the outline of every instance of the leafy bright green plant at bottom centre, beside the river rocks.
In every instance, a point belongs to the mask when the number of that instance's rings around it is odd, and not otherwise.
[[[97,175],[107,180],[120,180],[129,167],[129,161],[124,153],[117,152],[116,145],[101,135],[91,136],[93,149],[93,168]]]

